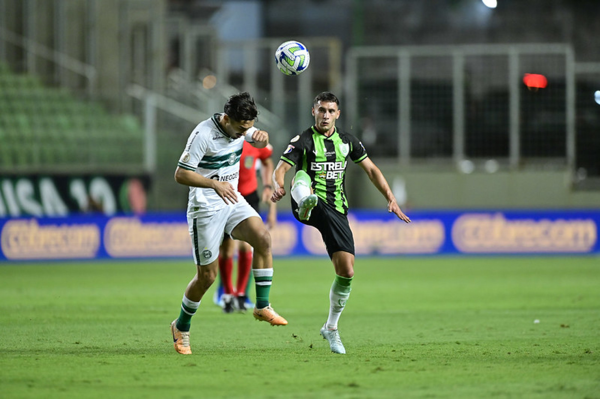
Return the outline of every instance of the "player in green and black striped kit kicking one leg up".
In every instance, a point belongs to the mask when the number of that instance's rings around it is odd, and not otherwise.
[[[349,161],[360,165],[373,185],[388,201],[388,211],[404,222],[410,219],[398,207],[385,177],[367,156],[358,138],[340,132],[335,121],[340,117],[340,101],[330,92],[316,96],[312,113],[314,125],[290,140],[273,173],[271,201],[286,195],[284,177],[292,167],[292,211],[296,219],[317,228],[334,264],[335,280],[329,291],[329,317],[321,335],[332,352],[346,353],[337,330],[338,320],[350,295],[354,276],[354,238],[348,223],[348,201],[344,177]]]

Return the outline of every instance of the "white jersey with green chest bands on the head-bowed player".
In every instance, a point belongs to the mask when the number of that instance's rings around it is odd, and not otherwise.
[[[229,182],[238,190],[239,159],[244,139],[229,137],[219,125],[221,114],[200,122],[191,132],[178,166],[195,171],[208,179]],[[248,129],[251,134],[256,128]],[[238,192],[238,201],[243,198]],[[210,216],[226,207],[223,198],[209,188],[190,187],[187,216]]]

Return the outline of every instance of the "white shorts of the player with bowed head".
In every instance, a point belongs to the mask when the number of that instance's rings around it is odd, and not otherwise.
[[[194,262],[197,265],[214,262],[219,256],[224,233],[231,235],[235,226],[251,216],[260,217],[244,198],[238,197],[238,202],[227,205],[211,216],[188,217]]]

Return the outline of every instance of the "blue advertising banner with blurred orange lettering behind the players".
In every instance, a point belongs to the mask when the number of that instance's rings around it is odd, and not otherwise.
[[[386,211],[349,214],[357,255],[600,255],[600,210]],[[275,256],[326,256],[319,232],[281,213]],[[185,214],[0,219],[0,261],[190,258]]]

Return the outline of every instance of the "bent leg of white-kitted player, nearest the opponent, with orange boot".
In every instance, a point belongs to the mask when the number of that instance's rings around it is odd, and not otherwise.
[[[273,257],[271,253],[271,234],[265,228],[262,219],[251,216],[239,223],[232,231],[237,240],[246,241],[254,248],[252,270],[256,286],[256,306],[254,318],[269,322],[271,325],[286,325],[287,321],[277,314],[269,303],[269,293],[273,280]]]

